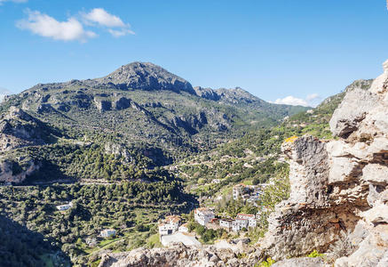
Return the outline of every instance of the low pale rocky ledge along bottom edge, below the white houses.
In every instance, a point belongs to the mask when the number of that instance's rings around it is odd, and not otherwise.
[[[244,251],[244,254],[242,254]],[[247,255],[248,253],[248,255]],[[238,255],[240,259],[238,259]],[[251,248],[249,251],[234,251],[229,248],[186,247],[175,244],[168,248],[147,249],[140,247],[131,252],[113,253],[103,255],[99,267],[203,267],[203,266],[253,266],[257,263],[259,255]]]

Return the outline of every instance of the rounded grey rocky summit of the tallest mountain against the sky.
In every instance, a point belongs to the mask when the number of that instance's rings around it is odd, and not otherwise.
[[[170,90],[193,93],[193,86],[185,79],[151,62],[135,61],[123,65],[106,77],[94,79],[99,84],[114,84],[128,89]]]

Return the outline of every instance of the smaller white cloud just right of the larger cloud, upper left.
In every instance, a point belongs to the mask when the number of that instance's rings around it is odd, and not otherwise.
[[[83,13],[86,24],[106,27],[107,31],[115,37],[134,35],[130,24],[125,24],[119,17],[108,13],[103,8],[94,8],[89,13]]]

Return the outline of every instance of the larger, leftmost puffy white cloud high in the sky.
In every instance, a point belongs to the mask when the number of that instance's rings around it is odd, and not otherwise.
[[[96,33],[85,30],[83,25],[75,18],[58,21],[41,12],[27,11],[28,19],[19,20],[16,26],[28,29],[38,36],[50,37],[55,40],[85,42],[88,38],[97,36]]]

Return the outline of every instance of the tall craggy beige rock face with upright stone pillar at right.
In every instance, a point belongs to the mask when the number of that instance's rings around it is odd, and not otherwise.
[[[290,198],[271,215],[261,247],[277,260],[317,249],[338,267],[387,266],[388,61],[368,91],[346,93],[330,128],[339,140],[283,144]]]

